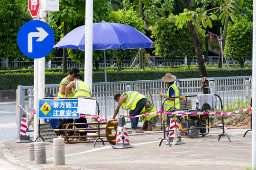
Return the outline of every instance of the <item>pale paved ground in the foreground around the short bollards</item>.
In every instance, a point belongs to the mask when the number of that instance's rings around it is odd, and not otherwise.
[[[0,143],[0,157],[27,170],[244,170],[251,168],[251,131],[227,128],[230,136],[218,141],[219,128],[207,136],[192,139],[182,136],[185,144],[165,145],[163,131],[132,133],[133,148],[113,149],[105,142],[64,144],[65,165],[53,165],[53,143],[46,142],[46,164],[29,161],[28,144],[18,139]]]

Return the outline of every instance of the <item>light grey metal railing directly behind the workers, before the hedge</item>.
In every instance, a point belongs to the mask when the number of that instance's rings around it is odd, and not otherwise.
[[[224,108],[237,108],[241,110],[245,109],[242,108],[243,102],[250,101],[251,77],[252,76],[207,78],[210,86],[206,88],[210,88],[211,93],[218,94],[221,97]],[[202,94],[201,78],[176,79],[175,82],[179,93],[182,95]],[[154,103],[156,110],[160,110],[161,102],[158,93],[167,92],[167,85],[161,80],[108,82],[107,93],[105,91],[105,82],[93,83],[91,89],[92,97],[100,105],[101,118],[106,118],[106,112],[108,112],[107,119],[112,118],[117,104],[113,99],[116,93],[123,93],[128,90],[137,91],[138,85],[140,86],[140,93],[144,94],[148,100]],[[18,105],[21,104],[25,106],[24,108],[26,108],[28,112],[33,111],[33,88],[33,86],[18,86]],[[45,91],[52,93],[54,96],[57,96],[58,88],[59,85],[45,85]],[[148,88],[151,91],[152,99],[149,95]],[[105,104],[106,100],[108,102],[107,106]],[[194,109],[196,100],[191,99],[191,103],[192,109]],[[21,112],[22,110],[19,110],[18,113],[21,114]],[[119,114],[124,113],[128,113],[128,110],[120,110]]]

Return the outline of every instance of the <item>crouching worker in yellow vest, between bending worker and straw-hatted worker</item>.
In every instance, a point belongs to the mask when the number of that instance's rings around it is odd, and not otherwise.
[[[147,107],[147,104],[149,104],[149,107]],[[146,113],[152,113],[156,111],[155,107],[147,101],[145,107],[141,110],[141,114],[146,114]],[[145,131],[152,131],[152,126],[155,127],[157,124],[157,121],[159,119],[159,114],[153,114],[153,115],[148,115],[148,116],[142,116],[141,121],[144,122],[142,125],[142,130]]]

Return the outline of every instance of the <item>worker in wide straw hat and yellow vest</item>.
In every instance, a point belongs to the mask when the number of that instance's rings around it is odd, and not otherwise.
[[[159,95],[161,97],[167,98],[167,97],[173,97],[173,96],[179,96],[178,88],[174,84],[174,80],[176,80],[176,76],[172,75],[171,73],[166,73],[165,76],[162,77],[162,81],[168,85],[168,90],[166,95],[162,92],[159,92]],[[169,98],[165,101],[165,110],[174,110],[174,109],[180,109],[180,98]]]

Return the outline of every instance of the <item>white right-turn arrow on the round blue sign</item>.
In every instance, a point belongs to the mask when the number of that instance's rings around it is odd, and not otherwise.
[[[41,42],[49,35],[42,27],[38,27],[37,30],[39,32],[32,32],[27,35],[27,52],[33,52],[33,37],[39,37],[37,42]]]

